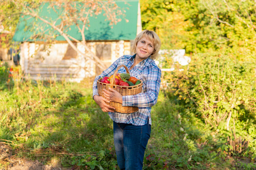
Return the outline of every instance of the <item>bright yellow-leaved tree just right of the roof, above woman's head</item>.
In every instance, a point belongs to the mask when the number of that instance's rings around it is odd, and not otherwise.
[[[158,33],[163,49],[184,49],[188,21],[180,12],[174,1],[143,0],[141,1],[143,29]]]

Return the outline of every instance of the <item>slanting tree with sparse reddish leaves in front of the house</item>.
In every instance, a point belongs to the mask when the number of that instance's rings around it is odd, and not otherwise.
[[[1,2],[2,3],[2,2]],[[7,0],[5,1],[6,6],[14,6],[15,10],[20,11],[20,16],[30,16],[36,20],[47,24],[51,27],[52,32],[57,32],[60,36],[63,36],[64,39],[68,42],[71,47],[76,50],[77,53],[82,54],[87,59],[92,59],[96,62],[102,69],[106,68],[106,65],[100,61],[100,59],[94,54],[88,44],[86,44],[85,32],[90,27],[90,17],[97,17],[100,14],[103,14],[106,17],[106,20],[109,21],[110,25],[116,24],[121,21],[121,17],[124,16],[122,10],[116,5],[113,1],[99,1],[99,0],[89,0],[89,1],[70,1],[70,0],[61,0],[61,1],[49,1],[48,10],[53,10],[56,12],[58,18],[51,19],[47,17],[42,17],[39,15],[39,6],[44,2],[42,0],[36,1],[14,1]],[[75,39],[72,35],[69,35],[68,30],[72,26],[75,26],[79,29],[81,33],[82,40]],[[35,35],[33,39],[37,39],[39,36],[45,40],[51,42],[52,39],[56,38],[56,33],[49,35],[44,35],[42,32],[38,31],[39,25],[32,25],[31,28],[35,28]],[[85,53],[79,50],[75,43],[80,42],[84,48]]]

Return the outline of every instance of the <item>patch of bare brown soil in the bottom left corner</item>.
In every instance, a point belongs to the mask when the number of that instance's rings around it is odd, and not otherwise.
[[[38,160],[31,161],[16,158],[9,145],[0,143],[0,169],[1,170],[64,170],[57,162],[44,165]],[[67,168],[65,168],[67,169]]]

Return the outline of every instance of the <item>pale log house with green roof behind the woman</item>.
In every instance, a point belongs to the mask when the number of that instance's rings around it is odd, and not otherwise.
[[[90,27],[84,32],[89,48],[108,66],[123,54],[131,54],[133,40],[142,31],[139,0],[115,1],[115,3],[121,8],[126,8],[125,19],[112,28],[103,14],[100,14],[97,18],[90,18]],[[55,12],[49,12],[48,6],[49,2],[43,3],[39,7],[39,15],[42,18],[57,18]],[[80,82],[86,77],[96,76],[102,72],[102,68],[95,62],[73,50],[63,36],[57,36],[51,45],[40,39],[31,39],[33,34],[29,29],[25,29],[31,26],[31,20],[34,18],[20,16],[13,37],[14,41],[21,42],[19,63],[26,77],[43,80],[64,78]],[[44,24],[40,21],[36,22],[39,22],[37,25]],[[47,25],[44,24],[44,27],[47,29]],[[79,30],[72,26],[71,28],[68,32],[81,41]],[[85,52],[80,42],[75,45],[81,52]]]

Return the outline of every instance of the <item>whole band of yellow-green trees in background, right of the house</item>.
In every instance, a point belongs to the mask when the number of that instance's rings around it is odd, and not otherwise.
[[[164,49],[255,59],[253,0],[142,0],[141,4],[143,29],[155,30]]]

